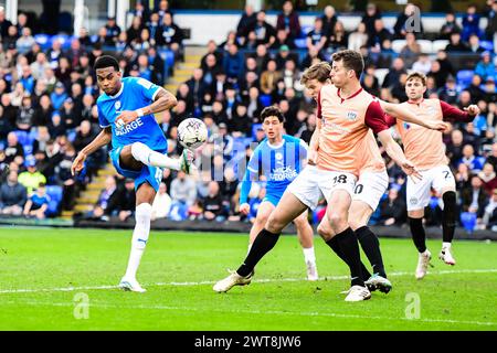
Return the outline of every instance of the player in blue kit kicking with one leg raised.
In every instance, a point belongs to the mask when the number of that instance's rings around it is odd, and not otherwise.
[[[154,115],[176,106],[171,93],[144,78],[123,77],[117,60],[109,55],[99,56],[94,68],[103,90],[97,99],[102,131],[77,154],[72,172],[81,171],[91,153],[112,142],[109,156],[116,171],[135,180],[136,225],[128,267],[119,288],[144,292],[136,272],[148,240],[151,205],[162,180],[162,169],[189,173],[193,153],[184,149],[179,159],[166,154],[167,140]]]

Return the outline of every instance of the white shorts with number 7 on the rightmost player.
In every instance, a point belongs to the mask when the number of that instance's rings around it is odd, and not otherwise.
[[[448,165],[420,171],[423,179],[415,183],[408,178],[408,211],[423,210],[430,203],[431,188],[440,193],[443,189],[455,189],[455,179]]]

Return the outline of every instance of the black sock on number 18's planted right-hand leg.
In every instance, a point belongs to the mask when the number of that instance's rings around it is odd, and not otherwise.
[[[361,270],[361,255],[359,252],[359,243],[357,242],[356,233],[353,233],[352,228],[348,227],[335,237],[337,238],[340,250],[343,254],[343,260],[350,268],[351,286],[364,287]]]

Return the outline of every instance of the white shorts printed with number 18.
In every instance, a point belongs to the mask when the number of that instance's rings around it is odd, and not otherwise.
[[[325,196],[329,203],[331,193],[338,189],[346,190],[352,197],[356,180],[356,175],[351,173],[321,170],[315,165],[307,165],[288,185],[287,190],[310,210],[315,210],[321,196]]]

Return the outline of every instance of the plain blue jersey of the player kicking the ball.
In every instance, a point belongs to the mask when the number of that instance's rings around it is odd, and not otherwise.
[[[98,121],[102,128],[112,127],[113,148],[142,142],[156,151],[167,150],[167,140],[152,114],[117,128],[116,118],[124,110],[136,110],[150,105],[159,86],[139,77],[124,77],[115,96],[103,93],[97,99]]]

